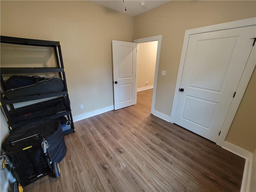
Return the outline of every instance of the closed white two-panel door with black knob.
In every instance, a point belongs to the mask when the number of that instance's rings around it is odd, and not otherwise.
[[[174,123],[217,141],[255,30],[250,26],[190,35]]]

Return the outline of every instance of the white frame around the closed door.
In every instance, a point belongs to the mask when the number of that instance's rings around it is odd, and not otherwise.
[[[174,122],[174,115],[175,115],[175,112],[176,112],[176,107],[177,107],[177,102],[178,102],[178,94],[179,94],[178,90],[180,88],[180,84],[181,84],[181,80],[182,80],[182,74],[183,74],[185,58],[186,58],[186,50],[187,50],[187,47],[188,47],[188,41],[189,41],[190,35],[206,33],[206,32],[213,32],[213,31],[219,31],[219,30],[227,30],[227,29],[232,29],[232,28],[241,28],[241,27],[247,27],[247,26],[254,26],[254,25],[256,25],[256,17],[186,30],[185,36],[184,36],[184,41],[183,41],[183,46],[182,46],[180,66],[179,66],[178,76],[177,76],[177,81],[176,81],[176,86],[175,86],[174,99],[173,99],[173,102],[172,102],[172,111],[171,111],[171,115],[170,115],[170,122],[172,122],[172,123]],[[255,54],[255,53],[253,53],[253,51],[255,52],[255,46],[252,49],[252,52],[250,54],[250,58],[253,57],[252,54]],[[227,116],[224,120],[224,124],[223,124],[222,129],[221,129],[221,134],[218,137],[218,140],[216,142],[216,144],[219,145],[219,146],[224,147],[227,143],[227,142],[225,142],[226,135],[228,134],[228,130],[229,130],[231,124],[232,124],[232,121],[234,119],[234,116],[236,114],[238,106],[239,106],[239,104],[242,100],[242,96],[244,95],[244,91],[245,91],[245,89],[247,87],[247,84],[250,80],[250,77],[252,75],[252,72],[253,72],[253,69],[254,69],[255,65],[256,64],[253,63],[252,59],[249,59],[245,68],[244,68],[244,72],[242,74],[242,77],[241,77],[240,82],[238,84],[238,88],[236,90],[236,97],[232,100],[232,103],[231,103],[230,108],[228,110],[228,114],[227,114]],[[236,150],[236,149],[234,149],[234,150]]]

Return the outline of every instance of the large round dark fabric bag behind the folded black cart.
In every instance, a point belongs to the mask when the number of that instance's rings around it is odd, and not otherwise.
[[[8,148],[12,147],[11,143],[15,144],[14,141],[36,134],[41,134],[47,140],[52,162],[61,162],[66,155],[67,147],[60,123],[52,119],[31,122],[12,131],[4,140],[3,148],[8,151]]]

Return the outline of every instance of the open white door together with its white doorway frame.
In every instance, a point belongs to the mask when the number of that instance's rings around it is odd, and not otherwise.
[[[157,112],[154,110],[154,106],[162,35],[137,39],[134,40],[134,43],[112,40],[114,110],[136,104],[137,46],[139,43],[154,41],[157,41],[158,44],[156,53],[151,113],[158,116],[156,114]]]

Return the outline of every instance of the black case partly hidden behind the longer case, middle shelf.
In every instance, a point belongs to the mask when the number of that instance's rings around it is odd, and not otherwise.
[[[20,88],[20,87],[33,85],[33,84],[36,84],[43,80],[47,80],[47,79],[44,77],[40,77],[40,76],[30,77],[30,76],[14,75],[14,76],[11,76],[6,81],[6,88],[7,88],[7,90],[16,89],[16,88]]]

